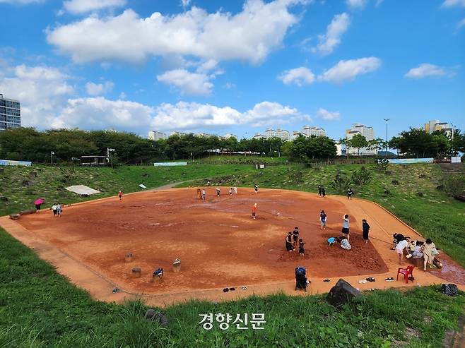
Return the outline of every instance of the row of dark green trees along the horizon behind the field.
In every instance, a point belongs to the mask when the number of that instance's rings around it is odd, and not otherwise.
[[[454,138],[444,132],[432,134],[418,129],[404,131],[386,144],[382,139],[368,141],[357,134],[352,139],[341,139],[346,148],[374,148],[382,150],[389,146],[402,155],[413,157],[440,157],[456,155],[465,151],[465,134],[459,130]],[[281,154],[305,162],[309,159],[326,159],[336,156],[336,143],[326,136],[300,136],[283,142],[280,138],[241,139],[200,137],[188,134],[170,136],[165,140],[152,141],[133,133],[115,131],[82,131],[59,129],[36,131],[34,128],[15,128],[0,132],[0,158],[6,160],[29,160],[49,162],[54,152],[55,160],[72,161],[83,155],[106,155],[112,148],[113,162],[129,164],[146,163],[152,160],[177,160],[196,158],[214,150],[226,152],[254,152],[260,155]]]

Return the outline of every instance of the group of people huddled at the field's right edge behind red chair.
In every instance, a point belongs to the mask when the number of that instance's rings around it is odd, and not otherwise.
[[[427,267],[441,268],[442,263],[439,259],[439,251],[430,238],[425,241],[413,241],[410,237],[404,236],[401,233],[393,234],[394,240],[392,250],[395,250],[399,256],[399,265],[404,259],[404,250],[406,250],[406,258],[423,258],[423,270]]]

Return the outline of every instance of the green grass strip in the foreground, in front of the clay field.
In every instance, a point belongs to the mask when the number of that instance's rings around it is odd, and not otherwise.
[[[170,306],[161,328],[143,319],[141,301],[93,301],[2,230],[0,255],[0,347],[440,347],[465,306],[464,293],[439,287],[375,291],[337,310],[324,296],[276,294]],[[202,313],[264,313],[266,324],[207,331]]]

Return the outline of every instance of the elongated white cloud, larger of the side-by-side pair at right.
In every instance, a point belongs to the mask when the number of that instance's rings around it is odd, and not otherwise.
[[[353,80],[358,75],[371,73],[379,66],[381,66],[381,60],[374,56],[339,61],[338,64],[318,76],[318,79],[332,83],[343,83]]]

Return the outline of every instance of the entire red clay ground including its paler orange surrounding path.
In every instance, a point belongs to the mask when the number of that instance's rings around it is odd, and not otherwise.
[[[215,188],[206,191],[206,201],[196,199],[195,188],[146,191],[126,195],[122,201],[105,198],[66,207],[63,217],[55,218],[48,211],[18,221],[1,217],[0,225],[95,299],[122,301],[145,294],[148,304],[160,306],[192,298],[216,301],[277,291],[295,294],[297,265],[307,267],[310,293],[329,291],[339,277],[361,290],[404,287],[400,280],[384,281],[396,277],[399,267],[396,253],[389,250],[392,233],[423,239],[367,200],[284,190],[255,194],[246,188],[232,197],[222,188],[223,196],[217,198]],[[254,203],[257,220],[251,216]],[[323,232],[319,229],[322,209],[328,215]],[[351,216],[351,251],[326,244],[329,236],[339,235],[344,213]],[[363,218],[372,227],[369,244],[361,238]],[[304,258],[284,248],[284,237],[294,226],[306,241]],[[134,260],[125,263],[129,252]],[[182,260],[181,272],[172,272],[175,258]],[[438,277],[447,278],[452,272],[459,275],[453,281],[464,289],[463,268],[447,256],[444,260],[445,268],[439,272],[416,270],[416,281],[408,286],[441,283]],[[131,277],[134,267],[142,269],[141,278]],[[153,284],[152,272],[158,267],[165,269],[164,282]],[[358,284],[367,276],[377,282]],[[323,282],[325,278],[331,282]],[[247,291],[240,290],[242,285]],[[114,287],[122,292],[112,294]],[[238,291],[224,294],[223,287]]]

